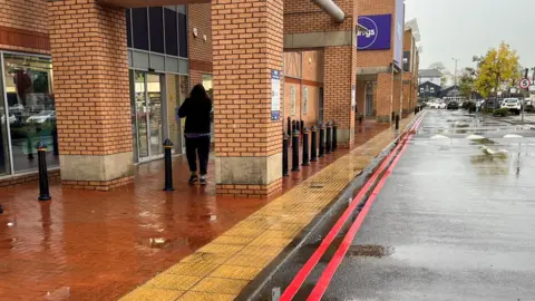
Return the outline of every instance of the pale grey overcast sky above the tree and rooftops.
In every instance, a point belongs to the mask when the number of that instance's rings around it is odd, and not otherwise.
[[[424,48],[420,68],[441,61],[454,72],[474,66],[474,55],[505,41],[523,67],[535,67],[535,0],[406,0],[406,20],[417,18]]]

